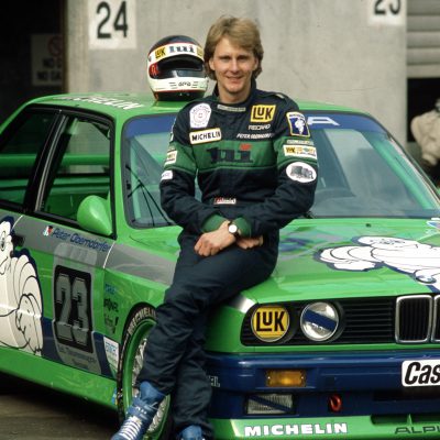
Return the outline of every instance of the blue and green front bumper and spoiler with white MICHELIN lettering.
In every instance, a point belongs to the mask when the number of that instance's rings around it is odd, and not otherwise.
[[[216,439],[440,439],[440,386],[404,387],[404,361],[438,361],[440,350],[310,354],[208,353]],[[266,370],[300,369],[300,388],[270,388]],[[246,398],[265,393],[294,396],[290,414],[248,415]],[[330,409],[338,395],[342,406]]]

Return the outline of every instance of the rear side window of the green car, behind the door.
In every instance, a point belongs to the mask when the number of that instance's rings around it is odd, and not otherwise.
[[[55,114],[23,112],[0,139],[0,199],[22,205],[40,151],[43,148]]]

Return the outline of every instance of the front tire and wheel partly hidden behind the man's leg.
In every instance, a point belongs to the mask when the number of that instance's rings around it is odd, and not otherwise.
[[[135,380],[141,371],[144,346],[154,323],[154,309],[144,306],[133,314],[125,328],[118,367],[118,414],[121,422],[125,418],[127,408],[131,405],[133,396],[138,393]],[[161,404],[144,439],[172,439],[172,425],[169,396],[167,396]]]

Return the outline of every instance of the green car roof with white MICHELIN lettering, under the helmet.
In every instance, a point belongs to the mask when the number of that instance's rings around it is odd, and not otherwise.
[[[345,106],[337,106],[331,102],[306,101],[295,99],[301,111],[338,111],[364,113],[361,110]],[[146,92],[85,92],[64,94],[40,97],[30,101],[44,106],[62,106],[81,108],[90,111],[106,113],[112,118],[128,119],[141,114],[157,114],[176,112],[183,108],[186,101],[156,101]]]

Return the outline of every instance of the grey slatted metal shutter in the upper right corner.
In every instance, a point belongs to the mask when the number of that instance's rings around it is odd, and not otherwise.
[[[408,0],[408,78],[440,77],[440,0]]]

